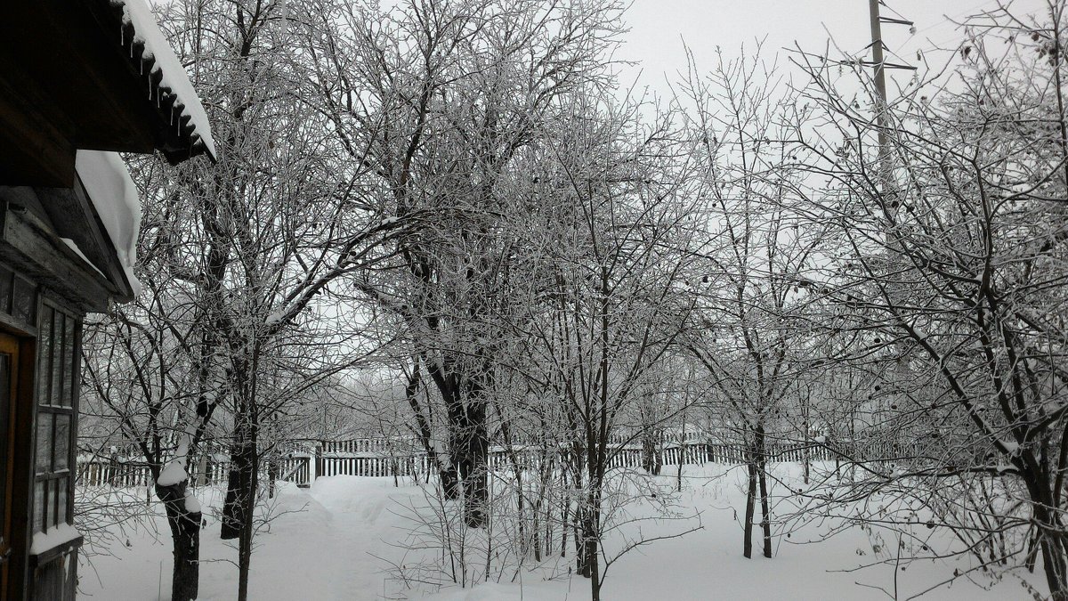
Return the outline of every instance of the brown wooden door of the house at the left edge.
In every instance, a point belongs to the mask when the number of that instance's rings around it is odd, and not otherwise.
[[[0,334],[0,601],[7,599],[7,566],[11,564],[12,474],[15,435],[15,382],[18,366],[18,340]]]

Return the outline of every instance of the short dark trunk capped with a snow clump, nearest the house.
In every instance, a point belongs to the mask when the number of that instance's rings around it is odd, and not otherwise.
[[[174,570],[171,574],[172,601],[193,601],[200,595],[201,512],[186,508],[188,480],[171,487],[156,486],[171,527]]]

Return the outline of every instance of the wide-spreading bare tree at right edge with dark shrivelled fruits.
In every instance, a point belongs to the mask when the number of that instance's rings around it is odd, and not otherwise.
[[[801,63],[830,179],[813,214],[837,241],[820,282],[875,375],[861,410],[896,438],[836,498],[899,498],[912,510],[877,519],[908,531],[926,513],[994,575],[1040,557],[1066,599],[1065,3],[1047,7],[965,24],[949,66],[876,122],[866,75]]]

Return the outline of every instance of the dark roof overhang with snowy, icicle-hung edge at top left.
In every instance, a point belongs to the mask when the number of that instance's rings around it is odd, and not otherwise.
[[[70,187],[77,149],[214,158],[144,0],[0,4],[0,184]]]

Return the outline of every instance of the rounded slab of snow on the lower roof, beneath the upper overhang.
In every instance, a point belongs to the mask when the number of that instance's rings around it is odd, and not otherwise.
[[[132,269],[137,262],[137,234],[141,228],[141,199],[130,172],[114,152],[79,150],[74,165],[115,247],[126,278],[138,294],[141,284]]]

